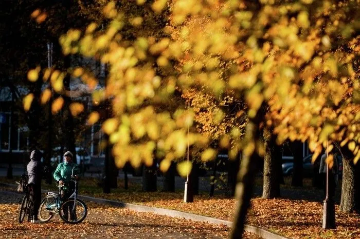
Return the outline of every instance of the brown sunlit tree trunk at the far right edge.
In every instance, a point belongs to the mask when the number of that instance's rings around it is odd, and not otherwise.
[[[351,213],[355,209],[355,167],[352,157],[343,156],[343,185],[341,185],[340,212]]]

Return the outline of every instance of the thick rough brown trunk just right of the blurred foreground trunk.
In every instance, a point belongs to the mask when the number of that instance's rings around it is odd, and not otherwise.
[[[267,129],[265,129],[267,130]],[[271,134],[267,130],[267,134]],[[262,198],[275,198],[280,196],[280,184],[277,176],[277,151],[276,137],[269,135],[265,141],[264,156],[264,184],[262,190]]]

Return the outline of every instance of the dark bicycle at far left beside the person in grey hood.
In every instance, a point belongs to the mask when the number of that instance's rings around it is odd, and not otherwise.
[[[28,179],[28,175],[26,174],[21,175],[21,181],[27,182],[27,179]],[[22,183],[21,181],[19,182],[19,184]],[[33,217],[33,191],[31,184],[26,184],[24,192],[25,192],[25,196],[23,197],[23,200],[21,202],[20,212],[19,212],[19,223],[22,223],[24,221],[26,215],[28,215],[28,221],[31,221]]]

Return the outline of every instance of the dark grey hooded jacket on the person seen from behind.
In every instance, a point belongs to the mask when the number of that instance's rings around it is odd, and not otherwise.
[[[39,150],[33,150],[30,155],[30,162],[27,165],[27,174],[29,175],[28,184],[33,183],[41,185],[43,177],[43,164],[41,163],[42,153]]]

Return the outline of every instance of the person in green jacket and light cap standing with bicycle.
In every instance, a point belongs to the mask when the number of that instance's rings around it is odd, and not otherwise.
[[[78,165],[73,163],[73,154],[70,151],[67,151],[64,154],[64,163],[60,163],[54,172],[54,179],[59,183],[59,185],[64,185],[67,187],[67,190],[64,192],[64,198],[68,198],[73,194],[75,190],[75,183],[71,180],[71,173],[74,169],[75,180],[79,180],[80,169]],[[64,216],[67,217],[70,205],[68,208],[64,208]],[[76,218],[71,218],[73,215],[70,213],[70,220],[75,220]]]

